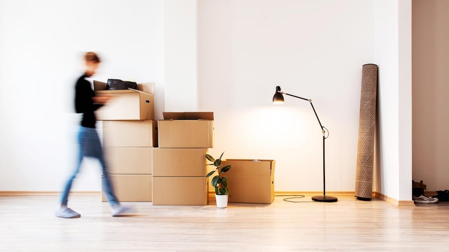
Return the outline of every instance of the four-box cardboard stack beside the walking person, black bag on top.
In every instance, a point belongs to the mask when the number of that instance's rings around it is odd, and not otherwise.
[[[94,81],[96,94],[113,96],[96,117],[103,121],[104,156],[117,198],[151,201],[152,150],[158,144],[154,83],[137,84],[138,90],[105,89]]]

